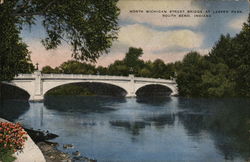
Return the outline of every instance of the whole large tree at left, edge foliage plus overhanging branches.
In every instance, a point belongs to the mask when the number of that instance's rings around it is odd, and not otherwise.
[[[11,80],[30,68],[27,46],[21,41],[23,25],[41,21],[42,44],[55,49],[63,41],[77,60],[96,61],[117,38],[118,0],[5,0],[0,4],[1,80]],[[17,65],[18,64],[18,65]],[[22,71],[21,71],[22,72]]]

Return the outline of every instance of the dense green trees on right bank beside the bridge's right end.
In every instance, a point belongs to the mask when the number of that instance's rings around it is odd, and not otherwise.
[[[250,15],[235,37],[222,35],[208,56],[188,54],[177,83],[183,96],[250,97]]]

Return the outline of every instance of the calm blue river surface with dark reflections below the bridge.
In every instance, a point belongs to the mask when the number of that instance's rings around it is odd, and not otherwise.
[[[247,99],[47,97],[4,102],[0,117],[60,135],[98,161],[245,161]],[[13,113],[15,112],[15,113]]]

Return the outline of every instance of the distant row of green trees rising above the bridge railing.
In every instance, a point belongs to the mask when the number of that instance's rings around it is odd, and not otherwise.
[[[65,73],[65,74],[93,74],[93,75],[118,75],[128,76],[134,74],[141,77],[166,78],[170,79],[175,75],[175,64],[166,65],[162,60],[157,59],[154,62],[144,62],[140,57],[143,51],[141,48],[130,47],[122,60],[116,60],[108,67],[71,60],[62,63],[59,67],[52,68],[45,66],[42,73]]]

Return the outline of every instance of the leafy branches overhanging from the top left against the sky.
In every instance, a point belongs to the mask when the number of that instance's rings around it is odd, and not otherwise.
[[[72,56],[95,61],[107,53],[117,38],[118,0],[5,0],[1,13],[14,19],[13,26],[33,25],[39,21],[47,33],[42,40],[46,49],[66,41]],[[4,26],[4,25],[3,25]]]

